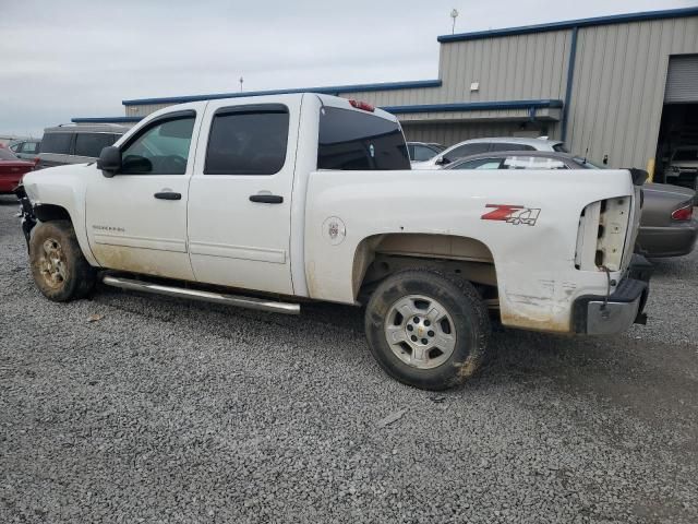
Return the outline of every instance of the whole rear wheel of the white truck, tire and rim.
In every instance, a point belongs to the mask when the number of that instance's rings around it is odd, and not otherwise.
[[[446,390],[472,377],[490,331],[474,287],[431,270],[388,276],[365,312],[373,357],[390,377],[422,390]]]

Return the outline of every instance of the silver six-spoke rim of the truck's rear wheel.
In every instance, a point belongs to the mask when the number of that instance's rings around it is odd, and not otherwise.
[[[433,298],[409,295],[397,300],[385,320],[393,354],[417,369],[433,369],[456,348],[456,326],[446,308]]]

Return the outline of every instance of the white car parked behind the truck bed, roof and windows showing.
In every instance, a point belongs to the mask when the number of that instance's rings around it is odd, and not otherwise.
[[[525,139],[518,136],[503,136],[471,139],[456,145],[452,145],[426,162],[412,164],[412,169],[440,169],[458,158],[497,151],[567,152],[563,142],[558,140],[547,140],[546,138]]]

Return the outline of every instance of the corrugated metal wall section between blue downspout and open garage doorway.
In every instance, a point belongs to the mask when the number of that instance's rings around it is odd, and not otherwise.
[[[654,157],[670,55],[698,52],[698,16],[579,29],[570,150],[612,167]]]

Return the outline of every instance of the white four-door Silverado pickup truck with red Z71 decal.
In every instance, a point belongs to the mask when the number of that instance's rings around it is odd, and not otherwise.
[[[410,170],[394,116],[305,93],[168,107],[97,163],[29,172],[19,196],[51,300],[100,281],[285,313],[364,305],[387,373],[445,389],[482,362],[491,317],[580,334],[643,321],[645,175]]]

